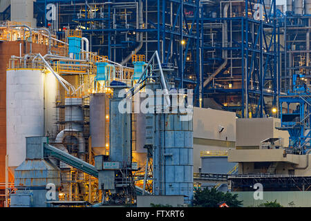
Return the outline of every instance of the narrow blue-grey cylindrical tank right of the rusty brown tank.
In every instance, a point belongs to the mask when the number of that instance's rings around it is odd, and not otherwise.
[[[112,162],[120,162],[122,167],[131,165],[131,106],[126,111],[126,102],[120,93],[126,86],[113,86],[110,102],[109,157]],[[120,102],[124,102],[120,104]],[[129,102],[131,105],[131,102]]]

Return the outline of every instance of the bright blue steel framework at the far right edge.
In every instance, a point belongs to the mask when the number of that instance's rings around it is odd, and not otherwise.
[[[288,6],[285,15],[278,18],[283,28],[281,88],[279,97],[281,125],[277,128],[290,134],[290,150],[306,154],[310,145],[310,20],[311,11],[305,1],[305,10]],[[301,3],[302,5],[302,3]],[[294,9],[294,10],[293,10]]]

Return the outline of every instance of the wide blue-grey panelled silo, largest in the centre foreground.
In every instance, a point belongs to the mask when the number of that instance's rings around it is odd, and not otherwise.
[[[148,83],[146,88],[147,92],[149,89],[155,92],[161,86]],[[154,104],[158,106],[157,96],[154,96]],[[146,144],[153,146],[154,195],[184,195],[185,203],[191,203],[194,195],[193,137],[192,116],[146,114]]]

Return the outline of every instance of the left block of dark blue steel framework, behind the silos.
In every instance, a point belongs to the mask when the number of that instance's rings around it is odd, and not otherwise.
[[[195,90],[196,105],[200,86],[200,7],[198,0],[66,1],[38,0],[38,25],[44,21],[46,5],[59,8],[59,28],[83,27],[91,49],[117,62],[131,53],[151,57],[159,51],[164,66],[171,68],[179,87]],[[140,14],[140,7],[144,12]],[[93,13],[90,13],[93,11]],[[142,20],[140,21],[140,16]],[[59,32],[59,35],[62,31]],[[182,44],[185,41],[185,44]],[[142,43],[142,46],[140,46]],[[189,77],[191,76],[191,77]]]

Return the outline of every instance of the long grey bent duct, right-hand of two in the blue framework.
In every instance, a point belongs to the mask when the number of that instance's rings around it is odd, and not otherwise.
[[[225,4],[225,7],[223,8],[223,17],[224,18],[227,18],[228,17],[228,8],[229,8],[229,3],[226,3]],[[224,20],[224,23],[223,23],[223,48],[226,48],[227,47],[227,43],[228,43],[228,25],[227,25],[227,21]],[[221,64],[219,66],[219,68],[217,68],[215,70],[215,72],[209,76],[203,83],[203,88],[205,86],[207,86],[207,84],[209,84],[209,82],[214,78],[216,77],[216,75],[218,75],[218,73],[220,73],[220,70],[223,70],[223,68],[225,68],[225,66],[227,65],[227,50],[223,49],[223,59],[225,61],[223,61],[223,64]]]

